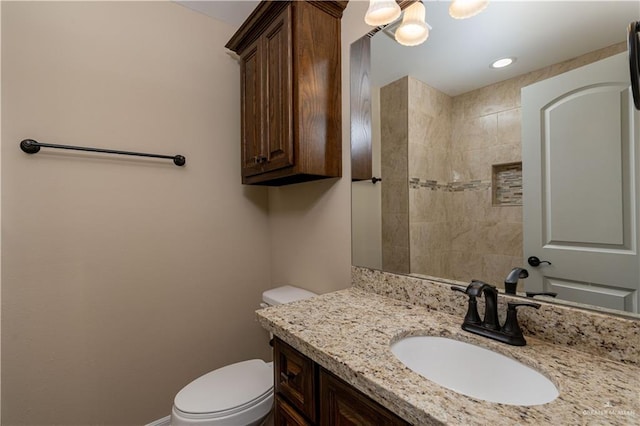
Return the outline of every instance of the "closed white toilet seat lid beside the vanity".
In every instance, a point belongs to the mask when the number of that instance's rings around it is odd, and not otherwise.
[[[174,405],[191,414],[230,411],[261,401],[272,389],[272,365],[261,359],[251,359],[195,379],[178,392]]]

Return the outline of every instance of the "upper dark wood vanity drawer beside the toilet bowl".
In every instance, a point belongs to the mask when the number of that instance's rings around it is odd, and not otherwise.
[[[313,361],[280,339],[274,340],[275,391],[314,423],[317,369]]]

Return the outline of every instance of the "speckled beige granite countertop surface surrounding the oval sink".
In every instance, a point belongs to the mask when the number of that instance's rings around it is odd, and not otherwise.
[[[408,422],[428,424],[638,424],[640,368],[527,337],[515,347],[467,333],[462,318],[358,288],[261,309],[267,330]],[[547,376],[560,396],[521,407],[477,400],[405,367],[391,342],[451,337],[492,349]]]

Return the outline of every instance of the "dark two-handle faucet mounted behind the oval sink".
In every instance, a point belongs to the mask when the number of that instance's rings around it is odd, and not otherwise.
[[[508,302],[507,318],[501,327],[498,320],[498,290],[495,286],[474,280],[471,281],[467,288],[451,286],[451,290],[459,291],[469,296],[469,307],[462,322],[463,330],[509,345],[524,346],[527,344],[518,324],[516,309],[518,306],[529,306],[538,309],[540,308],[538,303]],[[484,319],[481,321],[476,299],[482,295],[485,298],[485,308]]]

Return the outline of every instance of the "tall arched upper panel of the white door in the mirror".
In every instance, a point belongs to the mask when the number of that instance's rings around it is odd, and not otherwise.
[[[586,87],[543,108],[546,244],[622,248],[623,196],[629,197],[622,191],[629,139],[620,137],[626,91],[617,84]],[[574,124],[586,117],[598,120]],[[590,208],[576,199],[589,200]]]

